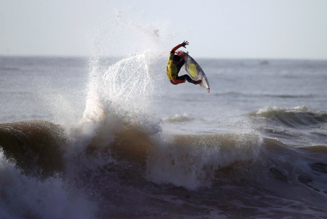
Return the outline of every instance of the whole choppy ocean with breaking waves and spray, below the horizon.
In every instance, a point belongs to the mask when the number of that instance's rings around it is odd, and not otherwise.
[[[159,54],[0,57],[0,218],[327,218],[326,60]]]

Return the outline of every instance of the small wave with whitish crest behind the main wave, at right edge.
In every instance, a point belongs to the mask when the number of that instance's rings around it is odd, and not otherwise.
[[[293,108],[267,107],[247,114],[270,137],[290,144],[326,144],[327,112],[306,106]]]

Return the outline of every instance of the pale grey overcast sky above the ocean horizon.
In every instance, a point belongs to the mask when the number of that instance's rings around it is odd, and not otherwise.
[[[1,0],[0,30],[0,55],[327,59],[326,0]]]

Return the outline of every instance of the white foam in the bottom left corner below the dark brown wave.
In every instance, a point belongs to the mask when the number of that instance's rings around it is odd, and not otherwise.
[[[0,153],[0,218],[95,218],[96,205],[60,177],[27,177]]]

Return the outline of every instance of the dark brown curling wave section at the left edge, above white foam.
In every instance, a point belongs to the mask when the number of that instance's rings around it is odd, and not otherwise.
[[[0,146],[5,157],[29,173],[47,175],[62,172],[64,145],[63,129],[48,121],[0,124]]]

